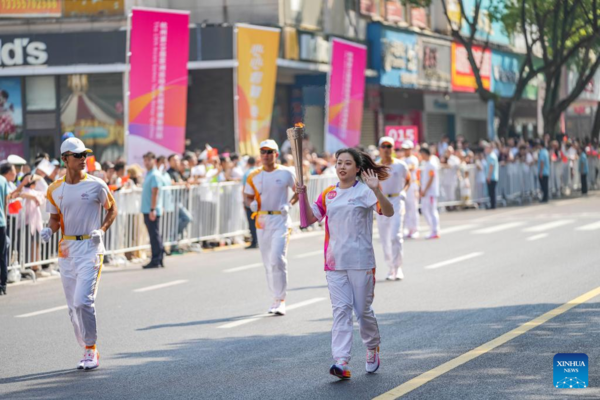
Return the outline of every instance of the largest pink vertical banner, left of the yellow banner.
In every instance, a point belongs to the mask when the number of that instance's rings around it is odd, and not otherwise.
[[[188,11],[134,8],[131,16],[127,161],[185,149]]]

